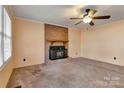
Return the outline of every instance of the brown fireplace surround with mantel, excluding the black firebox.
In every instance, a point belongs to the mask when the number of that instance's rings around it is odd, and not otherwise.
[[[50,46],[65,46],[68,50],[68,28],[45,24],[45,60],[49,60]]]

